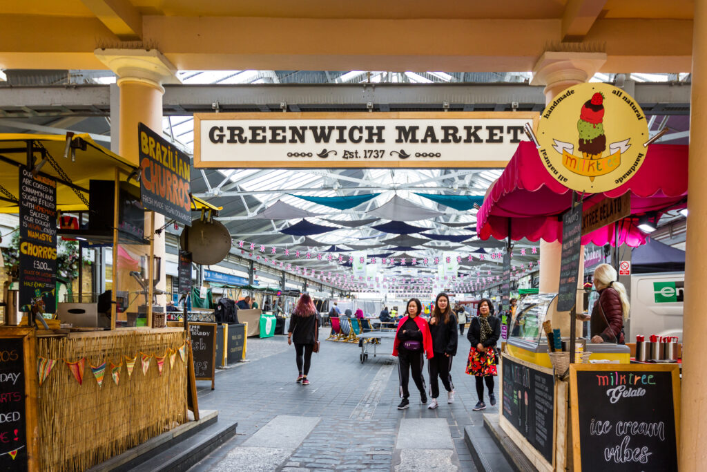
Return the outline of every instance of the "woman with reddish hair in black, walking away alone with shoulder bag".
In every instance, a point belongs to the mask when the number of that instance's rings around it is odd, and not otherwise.
[[[295,343],[295,360],[299,372],[297,381],[302,382],[302,385],[310,384],[307,375],[312,361],[315,339],[319,338],[320,325],[319,313],[312,303],[312,298],[309,294],[302,294],[292,312],[287,335],[287,343],[289,345]]]

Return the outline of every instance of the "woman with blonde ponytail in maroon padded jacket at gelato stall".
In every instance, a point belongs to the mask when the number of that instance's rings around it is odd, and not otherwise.
[[[617,282],[617,271],[609,264],[594,270],[594,286],[599,292],[590,318],[592,343],[624,344],[624,320],[629,318],[629,297],[624,284]]]

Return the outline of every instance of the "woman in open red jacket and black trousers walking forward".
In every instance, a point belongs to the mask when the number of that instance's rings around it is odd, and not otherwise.
[[[432,336],[427,321],[420,316],[422,304],[418,299],[410,299],[407,302],[407,314],[398,323],[393,340],[393,355],[398,358],[398,376],[400,380],[400,396],[402,401],[398,405],[398,410],[408,408],[410,392],[407,389],[410,371],[412,380],[420,391],[420,403],[427,403],[425,393],[425,379],[422,376],[422,365],[424,355],[432,359]]]

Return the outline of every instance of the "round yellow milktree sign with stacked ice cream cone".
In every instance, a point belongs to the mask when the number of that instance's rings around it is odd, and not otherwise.
[[[648,124],[638,102],[609,84],[579,84],[547,105],[538,152],[552,177],[577,192],[626,183],[641,168]]]

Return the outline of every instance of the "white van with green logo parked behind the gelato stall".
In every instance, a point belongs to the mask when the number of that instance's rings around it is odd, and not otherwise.
[[[626,343],[636,335],[677,336],[682,343],[685,272],[631,275],[631,318]]]

